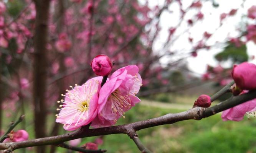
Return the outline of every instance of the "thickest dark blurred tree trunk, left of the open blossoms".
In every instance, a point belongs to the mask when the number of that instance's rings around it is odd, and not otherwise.
[[[36,20],[34,47],[35,58],[33,67],[33,103],[35,136],[46,136],[46,78],[47,78],[47,49],[48,20],[50,0],[35,0]],[[45,153],[45,146],[38,146],[36,153]]]

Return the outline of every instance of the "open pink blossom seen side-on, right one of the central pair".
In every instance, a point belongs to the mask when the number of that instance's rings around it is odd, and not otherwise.
[[[93,127],[114,125],[121,116],[140,99],[135,96],[140,90],[142,79],[136,65],[129,65],[114,72],[99,92],[98,116],[92,121]]]

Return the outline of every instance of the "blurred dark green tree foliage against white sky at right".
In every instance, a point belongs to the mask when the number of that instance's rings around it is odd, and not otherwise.
[[[222,52],[215,55],[215,59],[220,62],[231,60],[233,63],[242,63],[248,61],[248,58],[244,44],[241,47],[236,47],[235,44],[230,43]]]

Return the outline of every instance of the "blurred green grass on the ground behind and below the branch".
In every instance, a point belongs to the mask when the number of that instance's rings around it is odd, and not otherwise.
[[[126,113],[125,119],[119,119],[117,125],[181,111],[184,110],[138,104]],[[26,112],[26,130],[32,139],[34,138],[32,112]],[[54,114],[51,114],[51,117],[48,117],[49,123],[54,119]],[[7,120],[5,121],[7,122]],[[49,124],[48,127],[52,126]],[[216,114],[202,120],[186,120],[172,125],[140,130],[137,133],[142,143],[155,153],[256,153],[255,127],[256,119],[245,118],[241,122],[223,122],[220,114]],[[16,129],[19,128],[21,128],[21,124]],[[66,133],[66,131],[61,129],[61,133]],[[83,138],[80,145],[93,142],[95,138],[97,137]],[[106,149],[108,153],[140,152],[134,142],[125,134],[106,135],[103,141],[103,145],[100,145],[99,148]],[[33,151],[27,150],[27,152]],[[67,152],[66,149],[58,148],[58,153]]]

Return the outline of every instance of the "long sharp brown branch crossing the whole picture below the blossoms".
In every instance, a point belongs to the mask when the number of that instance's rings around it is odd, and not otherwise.
[[[160,116],[160,117],[156,117],[148,120],[142,120],[142,121],[134,122],[130,124],[104,127],[99,129],[81,128],[75,132],[71,132],[63,135],[57,135],[53,137],[37,138],[34,140],[27,140],[22,142],[0,143],[0,149],[4,150],[4,149],[11,148],[12,150],[15,150],[18,148],[25,148],[30,146],[53,145],[53,144],[63,143],[69,140],[74,140],[77,138],[93,137],[93,136],[99,136],[99,135],[109,135],[109,134],[118,134],[118,133],[124,133],[129,135],[129,133],[133,131],[146,129],[149,127],[155,127],[158,125],[173,124],[175,122],[179,122],[182,120],[189,120],[189,119],[200,120],[254,98],[256,98],[256,90],[250,91],[249,93],[242,94],[239,96],[234,96],[230,99],[227,99],[226,101],[223,101],[220,104],[217,104],[209,108],[195,107],[195,108],[189,109],[188,111],[175,113],[175,114],[166,114],[164,116]]]

